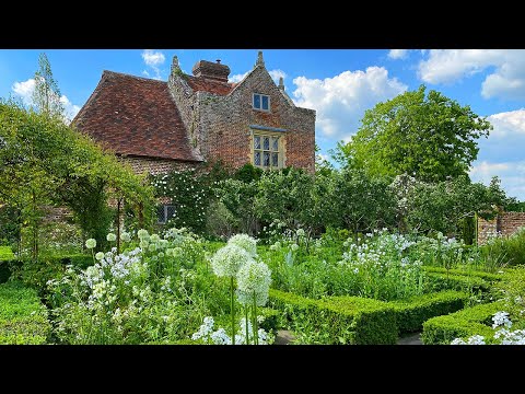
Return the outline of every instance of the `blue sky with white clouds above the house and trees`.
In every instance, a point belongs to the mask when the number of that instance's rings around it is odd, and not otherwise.
[[[199,60],[221,59],[230,80],[240,81],[258,50],[271,77],[283,77],[294,103],[316,111],[316,142],[325,158],[357,132],[366,109],[424,84],[493,125],[478,140],[471,179],[488,185],[498,175],[508,196],[525,200],[524,49],[0,49],[0,97],[31,104],[40,53],[72,118],[103,70],[166,81],[174,56],[186,73]]]

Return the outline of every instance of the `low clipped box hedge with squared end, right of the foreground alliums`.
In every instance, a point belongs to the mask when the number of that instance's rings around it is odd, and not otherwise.
[[[392,345],[397,341],[394,308],[359,297],[306,299],[270,289],[270,305],[294,324],[324,331],[327,344]]]

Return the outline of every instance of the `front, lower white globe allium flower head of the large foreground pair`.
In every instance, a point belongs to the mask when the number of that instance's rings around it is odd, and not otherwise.
[[[268,301],[268,291],[271,283],[271,270],[265,263],[248,262],[237,273],[237,298],[246,305],[254,302],[264,306]]]

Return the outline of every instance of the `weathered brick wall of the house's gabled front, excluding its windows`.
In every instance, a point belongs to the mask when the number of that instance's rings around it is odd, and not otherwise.
[[[178,66],[178,63],[177,63]],[[209,162],[222,160],[240,167],[250,162],[250,125],[285,129],[284,166],[315,170],[315,111],[295,107],[276,85],[264,65],[257,65],[243,83],[225,96],[198,91],[172,68],[168,86],[199,154]],[[270,96],[269,113],[252,107],[253,93]]]

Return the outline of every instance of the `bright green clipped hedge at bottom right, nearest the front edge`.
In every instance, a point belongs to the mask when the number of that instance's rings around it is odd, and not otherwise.
[[[489,343],[494,334],[491,327],[492,315],[502,308],[503,302],[497,301],[430,318],[423,323],[421,340],[424,345],[450,345],[454,338],[466,339],[472,335],[482,335]]]

